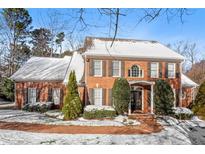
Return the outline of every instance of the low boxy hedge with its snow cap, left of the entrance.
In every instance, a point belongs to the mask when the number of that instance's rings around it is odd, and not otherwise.
[[[85,119],[113,118],[115,116],[116,111],[111,106],[88,105],[83,113]]]

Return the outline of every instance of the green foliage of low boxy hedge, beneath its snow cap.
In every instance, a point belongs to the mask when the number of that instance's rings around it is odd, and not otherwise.
[[[115,116],[116,112],[111,110],[93,110],[84,111],[83,113],[83,118],[85,119],[114,118]]]

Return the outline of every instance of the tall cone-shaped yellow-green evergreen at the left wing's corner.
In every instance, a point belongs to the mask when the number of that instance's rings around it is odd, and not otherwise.
[[[82,103],[78,94],[75,71],[71,71],[64,97],[62,112],[65,120],[76,119],[82,113]]]

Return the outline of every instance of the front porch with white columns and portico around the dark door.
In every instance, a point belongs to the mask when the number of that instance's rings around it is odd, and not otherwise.
[[[153,114],[154,82],[143,80],[131,80],[128,82],[131,87],[128,114]]]

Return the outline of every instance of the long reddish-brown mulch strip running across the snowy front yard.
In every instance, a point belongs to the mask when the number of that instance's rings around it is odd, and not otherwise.
[[[0,129],[59,134],[150,134],[160,132],[159,124],[137,126],[66,126],[0,121]]]

